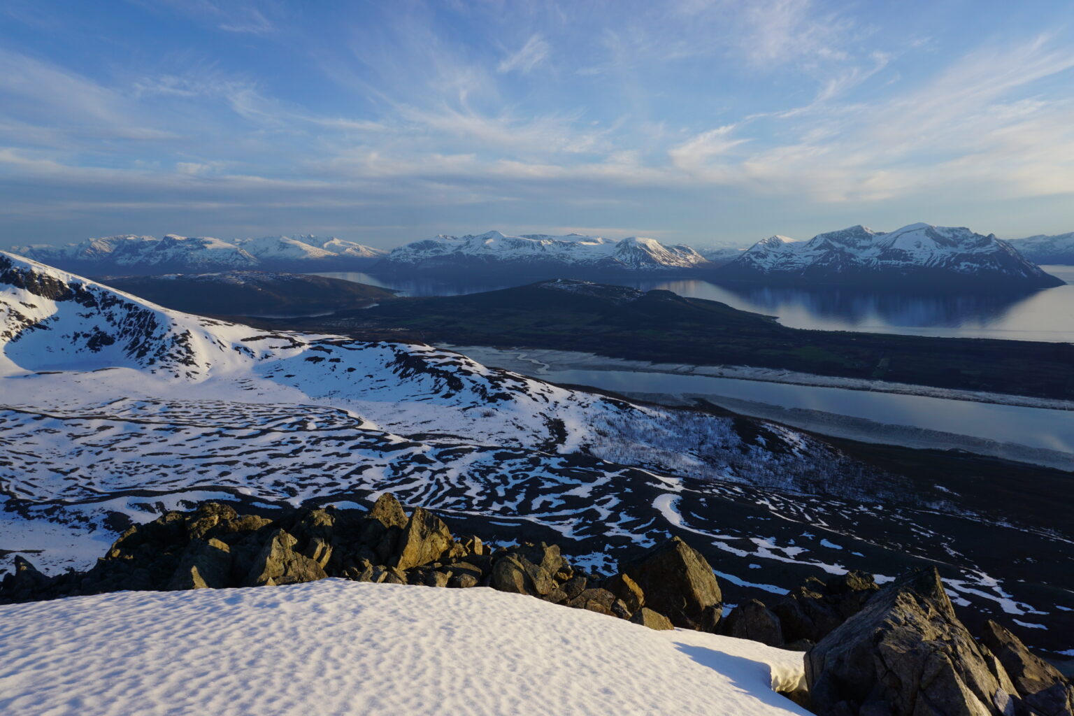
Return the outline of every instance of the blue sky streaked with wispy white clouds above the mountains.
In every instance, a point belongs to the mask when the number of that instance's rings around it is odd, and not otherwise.
[[[0,0],[0,246],[1074,231],[1074,3]]]

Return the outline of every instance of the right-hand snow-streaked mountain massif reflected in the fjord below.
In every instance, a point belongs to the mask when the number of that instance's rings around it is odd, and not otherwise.
[[[772,236],[715,275],[734,281],[939,290],[1062,284],[993,234],[927,223],[892,232],[857,225],[808,242]]]

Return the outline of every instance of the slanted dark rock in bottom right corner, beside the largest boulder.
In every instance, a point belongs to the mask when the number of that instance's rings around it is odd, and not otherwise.
[[[989,619],[981,642],[1010,676],[1025,703],[1025,713],[1074,716],[1074,686],[1058,669],[1031,654],[1021,640]]]

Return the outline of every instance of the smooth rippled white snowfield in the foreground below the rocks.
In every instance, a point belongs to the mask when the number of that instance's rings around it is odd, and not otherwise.
[[[802,655],[488,588],[322,580],[0,607],[0,712],[808,714]]]

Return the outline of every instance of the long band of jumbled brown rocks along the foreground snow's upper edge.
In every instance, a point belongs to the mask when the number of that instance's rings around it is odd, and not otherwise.
[[[658,603],[687,605],[690,613],[712,607],[720,587],[711,569],[703,579],[700,570],[708,566],[699,559],[681,541],[653,551],[642,573],[658,584]],[[623,619],[637,615],[650,628],[671,624],[625,573],[604,579],[576,570],[558,545],[545,542],[493,552],[476,536],[456,540],[440,517],[420,507],[408,515],[390,494],[380,495],[368,512],[329,507],[238,514],[220,502],[168,512],[124,532],[88,572],[48,578],[16,557],[15,574],[0,583],[0,603],[119,589],[271,586],[326,576],[455,589],[489,586]],[[677,600],[674,585],[691,591]],[[650,608],[642,611],[643,604]]]

